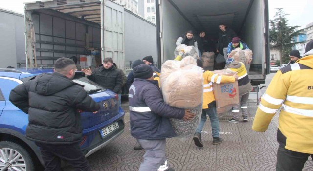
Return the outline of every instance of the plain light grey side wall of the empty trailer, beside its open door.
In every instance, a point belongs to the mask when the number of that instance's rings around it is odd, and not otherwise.
[[[124,11],[125,21],[125,63],[151,55],[157,64],[156,25],[137,16],[131,11]]]

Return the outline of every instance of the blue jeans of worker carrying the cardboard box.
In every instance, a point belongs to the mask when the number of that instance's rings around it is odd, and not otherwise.
[[[217,117],[216,107],[211,107],[207,109],[202,109],[201,120],[196,129],[196,132],[201,133],[206,122],[206,115],[209,116],[212,126],[212,136],[213,137],[220,137],[220,121]]]

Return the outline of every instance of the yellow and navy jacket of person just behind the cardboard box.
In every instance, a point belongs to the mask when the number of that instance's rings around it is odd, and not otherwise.
[[[239,96],[242,96],[246,93],[252,91],[253,87],[250,83],[249,76],[246,71],[245,64],[242,62],[234,61],[229,65],[225,66],[225,69],[229,68],[230,70],[237,72],[238,75],[238,89],[239,89]]]

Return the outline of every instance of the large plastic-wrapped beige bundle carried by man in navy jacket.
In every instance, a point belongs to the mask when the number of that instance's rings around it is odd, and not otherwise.
[[[164,102],[173,107],[190,109],[196,116],[189,121],[171,118],[178,137],[193,135],[200,122],[203,101],[203,70],[187,56],[181,61],[168,60],[162,65],[160,84]]]

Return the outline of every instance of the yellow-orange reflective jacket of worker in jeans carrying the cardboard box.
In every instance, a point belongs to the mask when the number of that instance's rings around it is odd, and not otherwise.
[[[203,109],[209,108],[209,104],[215,101],[213,94],[213,83],[233,83],[235,78],[233,76],[217,75],[211,71],[203,73]]]

